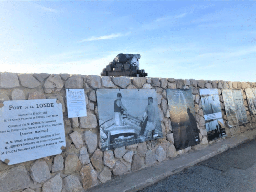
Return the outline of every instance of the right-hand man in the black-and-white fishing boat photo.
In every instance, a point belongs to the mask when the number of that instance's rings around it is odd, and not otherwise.
[[[152,130],[155,129],[156,122],[155,122],[155,107],[152,105],[153,103],[153,98],[148,97],[147,99],[148,105],[145,108],[145,112],[143,114],[143,120],[148,117],[147,125],[144,131],[144,136],[147,138],[152,138]]]

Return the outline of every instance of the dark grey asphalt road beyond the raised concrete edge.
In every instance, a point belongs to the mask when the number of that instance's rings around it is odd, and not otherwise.
[[[140,192],[256,191],[256,139],[202,161]]]

